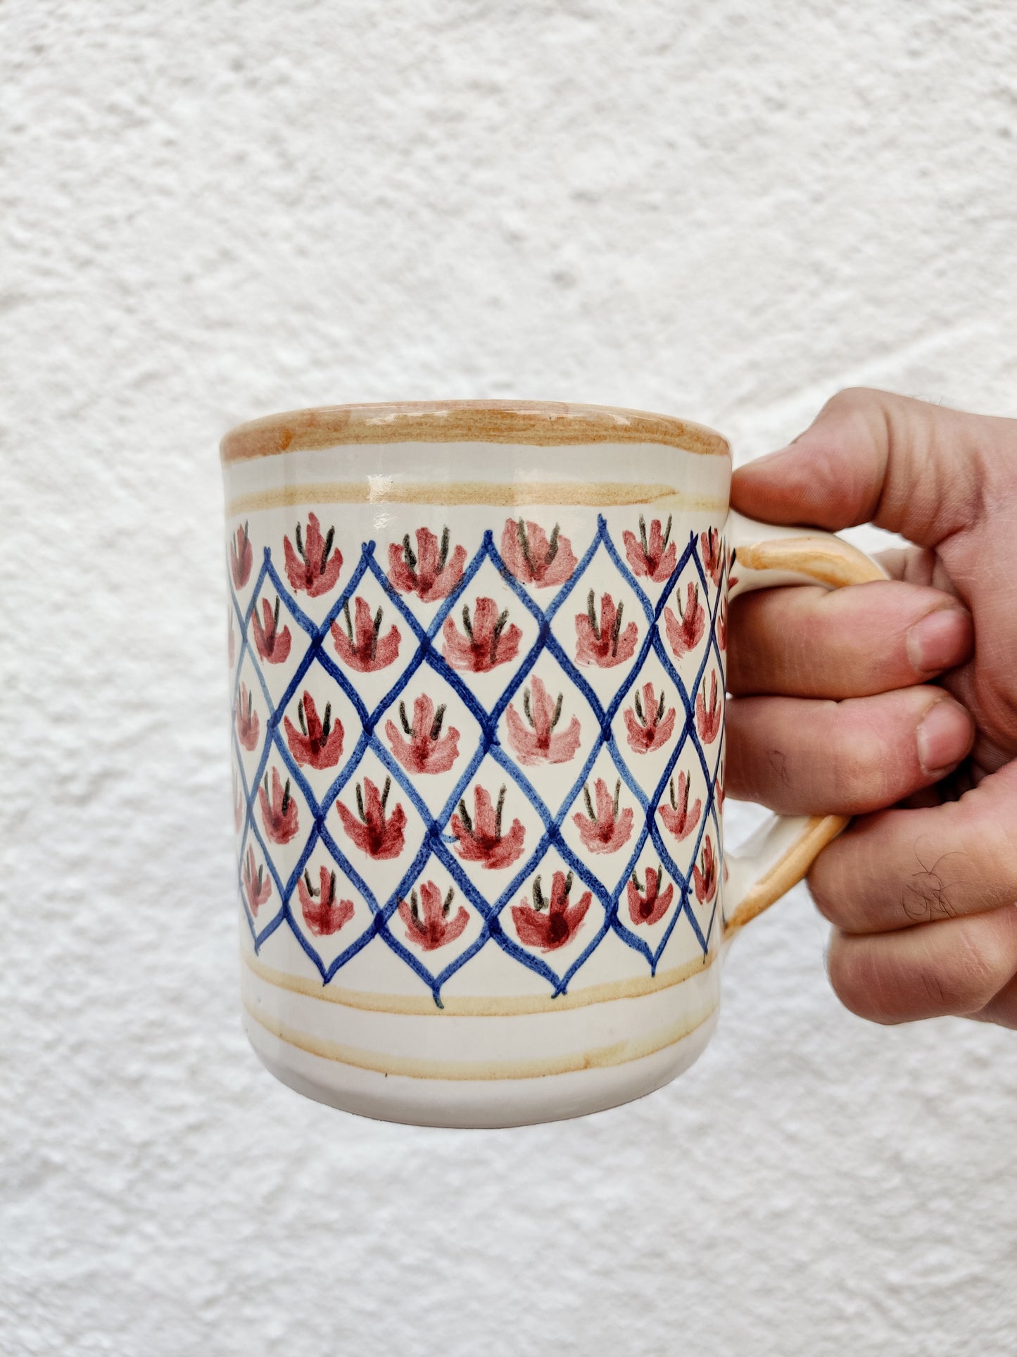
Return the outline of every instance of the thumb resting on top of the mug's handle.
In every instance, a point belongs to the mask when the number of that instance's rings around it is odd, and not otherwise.
[[[885,391],[841,391],[788,448],[735,472],[731,503],[766,522],[875,522],[936,547],[978,517],[986,445],[1012,423]]]

